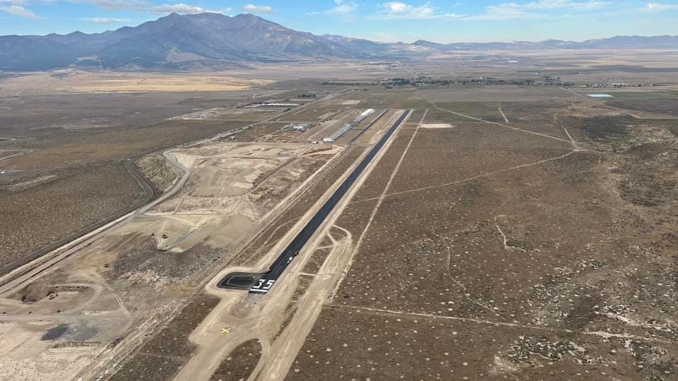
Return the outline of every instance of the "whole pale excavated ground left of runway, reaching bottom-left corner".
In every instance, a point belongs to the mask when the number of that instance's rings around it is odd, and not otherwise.
[[[244,136],[256,140],[264,133],[251,128]],[[177,193],[167,191],[155,205],[64,250],[68,255],[54,257],[60,262],[44,272],[38,267],[25,277],[4,279],[0,321],[9,329],[6,346],[49,340],[23,358],[14,352],[4,358],[12,367],[23,361],[20,374],[28,378],[57,380],[63,372],[96,378],[143,344],[111,375],[171,377],[191,358],[194,346],[186,338],[218,302],[196,296],[185,306],[186,298],[218,270],[215,261],[237,254],[235,248],[276,217],[283,200],[339,152],[331,145],[212,141],[166,152],[179,169],[148,159],[143,167],[157,174],[154,183]],[[71,356],[76,352],[82,356]],[[46,356],[61,364],[58,372],[44,368]]]

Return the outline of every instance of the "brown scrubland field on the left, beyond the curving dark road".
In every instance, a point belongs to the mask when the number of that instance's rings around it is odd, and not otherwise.
[[[166,122],[137,129],[32,138],[30,143],[22,140],[30,144],[32,152],[1,161],[2,169],[18,171],[0,178],[4,205],[0,213],[6,216],[2,219],[6,229],[0,234],[2,259],[18,260],[138,206],[145,191],[121,159],[238,126],[242,122]]]

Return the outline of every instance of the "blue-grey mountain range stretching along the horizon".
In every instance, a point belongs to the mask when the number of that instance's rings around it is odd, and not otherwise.
[[[299,59],[408,59],[436,52],[526,49],[678,49],[678,36],[619,36],[568,42],[386,44],[299,32],[251,14],[169,16],[103,33],[0,36],[0,70],[69,66],[119,70],[246,69],[252,62]]]

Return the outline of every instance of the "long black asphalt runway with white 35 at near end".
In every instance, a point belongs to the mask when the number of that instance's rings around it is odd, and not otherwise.
[[[273,284],[278,280],[280,277],[280,274],[283,274],[285,272],[285,269],[287,268],[287,265],[290,265],[290,262],[292,262],[292,259],[299,253],[299,250],[302,250],[304,245],[306,245],[307,241],[309,241],[309,238],[314,235],[316,230],[323,224],[325,219],[327,218],[328,214],[334,210],[334,207],[338,204],[338,202],[343,198],[345,195],[346,191],[348,191],[352,186],[353,183],[359,178],[359,176],[362,174],[365,168],[369,165],[369,163],[374,159],[376,154],[379,153],[381,148],[383,147],[384,144],[388,141],[389,138],[391,138],[391,135],[398,130],[398,127],[400,127],[400,124],[403,123],[403,121],[408,117],[410,114],[411,110],[406,110],[403,112],[402,115],[396,120],[396,123],[393,123],[393,126],[391,128],[388,128],[388,131],[383,134],[381,139],[379,139],[379,142],[377,142],[374,147],[363,157],[362,161],[353,169],[351,174],[341,183],[339,188],[334,191],[334,193],[328,198],[328,200],[323,204],[323,206],[316,212],[316,214],[311,218],[311,220],[304,226],[304,229],[299,231],[299,234],[295,236],[295,238],[290,242],[290,244],[283,250],[282,253],[278,256],[278,258],[275,259],[273,262],[273,265],[270,265],[268,271],[266,273],[261,274],[261,276],[258,277],[258,279],[254,279],[254,285],[251,287],[250,292],[256,292],[260,294],[266,294],[268,290],[271,289]],[[242,274],[242,273],[241,273]],[[220,286],[228,285],[228,284],[233,284],[232,282],[232,274],[227,275],[221,282],[219,282]],[[240,287],[238,287],[240,288]]]

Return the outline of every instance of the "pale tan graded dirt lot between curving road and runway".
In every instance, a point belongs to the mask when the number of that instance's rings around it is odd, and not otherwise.
[[[229,247],[323,167],[332,152],[331,146],[271,143],[173,150],[169,155],[194,172],[182,195],[157,205],[124,231],[150,229],[158,248],[179,253],[200,243]]]

